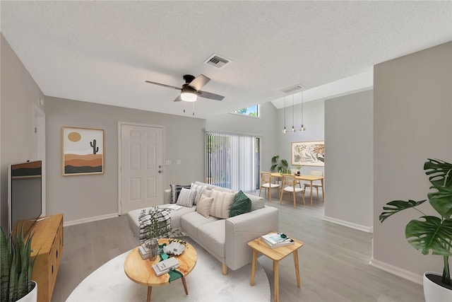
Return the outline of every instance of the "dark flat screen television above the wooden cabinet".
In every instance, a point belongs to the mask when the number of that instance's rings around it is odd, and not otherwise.
[[[8,231],[26,236],[42,214],[42,161],[8,167]]]

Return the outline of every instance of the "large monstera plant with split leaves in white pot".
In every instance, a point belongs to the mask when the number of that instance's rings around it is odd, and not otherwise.
[[[432,251],[432,255],[443,256],[444,261],[442,275],[434,272],[424,273],[424,297],[427,302],[451,302],[452,280],[448,257],[452,256],[452,164],[429,158],[424,163],[424,171],[432,183],[430,189],[433,191],[427,194],[429,203],[439,215],[429,216],[415,209],[427,199],[419,202],[409,199],[388,202],[383,207],[379,219],[383,222],[389,216],[410,208],[422,214],[418,219],[408,222],[405,227],[405,237],[408,243],[416,250],[421,250],[422,254],[428,255]]]

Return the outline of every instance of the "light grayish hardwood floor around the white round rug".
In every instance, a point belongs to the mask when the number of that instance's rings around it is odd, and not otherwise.
[[[304,243],[298,252],[302,287],[297,288],[293,257],[281,260],[280,301],[424,301],[421,285],[369,265],[371,234],[323,221],[323,202],[315,194],[313,207],[309,198],[303,206],[297,197],[296,209],[286,197],[281,205],[274,197],[266,204],[280,209],[279,231]],[[134,246],[126,216],[65,227],[52,302],[66,301],[88,274]],[[272,262],[266,257],[258,261],[270,281],[273,302]]]

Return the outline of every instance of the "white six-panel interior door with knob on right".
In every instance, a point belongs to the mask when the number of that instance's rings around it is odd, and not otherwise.
[[[119,124],[119,214],[163,202],[163,128]]]

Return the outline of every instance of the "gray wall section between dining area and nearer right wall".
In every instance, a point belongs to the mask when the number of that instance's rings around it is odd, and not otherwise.
[[[373,225],[373,91],[326,100],[325,219]]]

